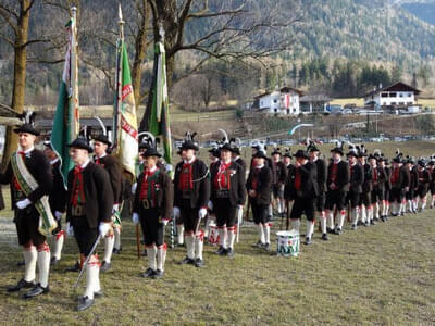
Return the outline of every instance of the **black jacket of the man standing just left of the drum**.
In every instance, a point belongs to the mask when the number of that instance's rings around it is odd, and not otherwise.
[[[257,177],[257,189],[252,188],[252,180]],[[246,181],[246,189],[256,190],[257,196],[250,198],[251,201],[259,205],[269,205],[271,203],[272,193],[272,170],[264,164],[260,171],[252,167],[249,172],[248,180]]]

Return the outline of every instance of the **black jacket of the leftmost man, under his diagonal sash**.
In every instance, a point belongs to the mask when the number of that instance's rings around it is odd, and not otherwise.
[[[50,193],[53,184],[51,165],[46,154],[37,149],[30,151],[24,158],[24,164],[26,165],[28,172],[33,175],[35,180],[38,183],[38,187],[27,196],[27,198],[34,203],[42,196]],[[17,199],[15,188],[13,186],[13,176],[14,173],[12,170],[12,165],[11,162],[9,162],[4,174],[0,174],[0,183],[3,185],[11,184],[12,209],[15,209]]]

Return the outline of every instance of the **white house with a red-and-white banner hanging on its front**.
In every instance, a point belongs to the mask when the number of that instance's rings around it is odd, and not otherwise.
[[[283,87],[256,97],[254,108],[275,115],[298,115],[301,95],[302,92],[297,89]]]

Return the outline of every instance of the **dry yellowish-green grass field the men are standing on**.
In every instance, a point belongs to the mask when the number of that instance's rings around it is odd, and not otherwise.
[[[400,143],[405,152],[427,154],[433,142]],[[332,145],[323,146],[326,152]],[[390,158],[396,145],[380,143]],[[372,150],[372,146],[370,146]],[[294,149],[296,150],[296,148]],[[203,151],[202,155],[204,155]],[[3,195],[8,197],[7,189]],[[7,198],[8,200],[8,198]],[[235,259],[204,247],[207,267],[176,262],[183,248],[169,250],[163,279],[139,277],[145,260],[136,256],[134,227],[124,222],[123,251],[113,258],[113,271],[101,275],[105,296],[88,311],[75,311],[72,290],[77,274],[63,269],[75,262],[76,244],[66,246],[60,265],[51,271],[51,292],[24,301],[0,291],[3,325],[434,325],[435,324],[435,210],[393,217],[376,226],[350,230],[324,242],[315,233],[298,258],[277,258],[251,248],[256,229],[241,227]],[[0,221],[12,212],[2,211]],[[281,221],[273,222],[272,242]],[[304,223],[301,224],[304,231]],[[169,233],[169,230],[166,231]],[[15,238],[0,240],[0,288],[23,275]]]

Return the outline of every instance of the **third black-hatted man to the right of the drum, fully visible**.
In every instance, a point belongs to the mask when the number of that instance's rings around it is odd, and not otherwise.
[[[343,148],[336,147],[331,150],[332,161],[327,166],[326,178],[326,202],[325,213],[330,220],[330,231],[340,235],[343,224],[346,217],[345,201],[347,191],[349,190],[349,165],[341,160]],[[336,208],[339,217],[338,223],[334,227],[334,206]]]

